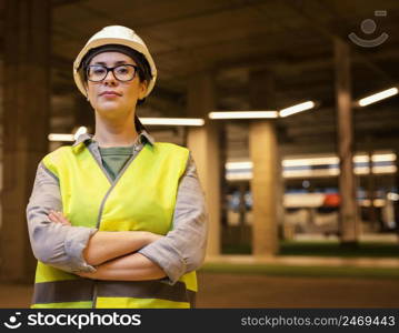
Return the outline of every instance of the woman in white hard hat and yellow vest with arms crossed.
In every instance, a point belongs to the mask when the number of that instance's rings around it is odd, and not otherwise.
[[[43,158],[27,208],[38,259],[32,307],[192,307],[205,258],[203,194],[190,152],[136,117],[157,70],[126,27],[74,61],[96,133]]]

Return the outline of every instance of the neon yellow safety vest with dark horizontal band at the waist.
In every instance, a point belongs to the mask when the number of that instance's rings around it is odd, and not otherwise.
[[[147,143],[111,183],[84,142],[44,157],[59,179],[63,214],[72,225],[100,231],[167,234],[189,151],[171,143]],[[196,272],[170,285],[152,281],[82,279],[38,262],[32,307],[191,307]]]

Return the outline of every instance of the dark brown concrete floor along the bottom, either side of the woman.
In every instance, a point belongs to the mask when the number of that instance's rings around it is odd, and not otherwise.
[[[198,307],[399,307],[397,280],[199,273]],[[0,284],[0,307],[28,307],[30,285]]]

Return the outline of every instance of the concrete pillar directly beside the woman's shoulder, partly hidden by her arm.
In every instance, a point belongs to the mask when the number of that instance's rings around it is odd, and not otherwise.
[[[219,123],[209,121],[208,113],[216,109],[215,82],[211,72],[191,77],[188,85],[188,115],[203,118],[201,128],[189,128],[187,143],[196,161],[209,212],[208,256],[220,254],[220,152]]]

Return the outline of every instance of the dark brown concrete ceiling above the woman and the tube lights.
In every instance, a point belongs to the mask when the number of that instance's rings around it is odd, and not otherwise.
[[[249,73],[259,69],[275,78],[277,108],[317,101],[317,109],[277,121],[283,154],[336,150],[333,38],[351,46],[353,99],[399,81],[397,0],[52,2],[52,85],[59,101],[54,117],[67,117],[68,108],[60,101],[78,94],[71,74],[74,57],[108,24],[134,29],[157,63],[159,80],[142,115],[184,115],[188,78],[201,70],[215,72],[219,110],[250,108]],[[376,10],[386,10],[387,16],[375,17]],[[360,31],[365,19],[377,23],[371,37]],[[349,41],[350,32],[362,38],[387,32],[389,39],[366,49]],[[353,110],[357,150],[399,149],[398,107],[399,98],[392,98]],[[248,157],[248,124],[231,122],[227,129],[228,157]]]

